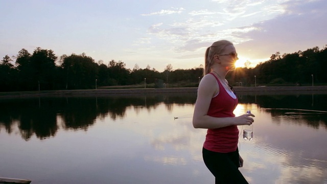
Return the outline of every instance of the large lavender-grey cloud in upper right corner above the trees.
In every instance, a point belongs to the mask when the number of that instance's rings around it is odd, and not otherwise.
[[[321,47],[326,44],[325,30],[327,12],[323,1],[287,2],[282,5],[285,13],[273,19],[251,25],[255,29],[240,33],[239,37],[249,38],[249,41],[238,45],[240,48],[252,48],[248,54],[262,57],[277,51],[293,53],[298,50]],[[320,20],[320,21],[318,21]],[[316,44],[314,44],[316,43]],[[291,46],[293,45],[293,46]]]

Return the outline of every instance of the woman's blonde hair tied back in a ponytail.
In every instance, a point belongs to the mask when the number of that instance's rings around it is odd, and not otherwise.
[[[212,70],[212,66],[214,64],[213,58],[217,54],[222,54],[224,49],[228,45],[233,45],[232,42],[228,40],[219,40],[214,42],[210,47],[208,47],[205,51],[205,57],[204,57],[204,70],[203,70],[203,76],[210,73]]]

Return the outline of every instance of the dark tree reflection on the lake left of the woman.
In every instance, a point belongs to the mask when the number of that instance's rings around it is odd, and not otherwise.
[[[85,131],[94,125],[97,118],[107,116],[112,120],[123,119],[126,109],[156,109],[164,103],[168,111],[172,105],[191,104],[194,95],[178,96],[152,95],[133,98],[94,97],[94,98],[35,98],[0,101],[0,130],[12,133],[14,126],[19,128],[22,139],[28,141],[33,134],[39,139],[55,136],[59,128]]]

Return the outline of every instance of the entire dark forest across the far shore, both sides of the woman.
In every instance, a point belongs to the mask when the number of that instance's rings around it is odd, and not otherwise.
[[[204,63],[204,61],[201,63]],[[325,85],[327,45],[306,51],[283,54],[276,52],[255,67],[236,68],[226,79],[233,86]],[[62,55],[36,48],[31,54],[21,49],[16,56],[6,55],[0,62],[0,91],[101,89],[129,87],[196,87],[203,67],[173,70],[168,64],[164,72],[148,65],[126,68],[123,61],[96,62],[86,54]]]

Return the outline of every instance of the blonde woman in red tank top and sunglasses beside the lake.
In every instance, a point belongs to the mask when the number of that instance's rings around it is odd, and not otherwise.
[[[230,41],[216,41],[207,48],[204,77],[199,84],[194,108],[194,128],[208,129],[202,156],[216,183],[248,183],[238,169],[243,166],[243,159],[237,147],[237,126],[252,124],[254,120],[251,116],[254,115],[249,113],[235,117],[233,110],[238,99],[225,79],[238,59]]]

